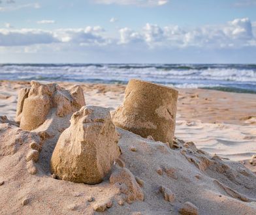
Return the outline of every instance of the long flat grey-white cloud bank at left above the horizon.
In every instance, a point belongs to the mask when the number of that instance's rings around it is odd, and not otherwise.
[[[99,26],[85,29],[57,29],[45,31],[40,29],[0,29],[0,46],[30,46],[34,44],[78,44],[103,45],[107,39],[101,36],[104,29]]]

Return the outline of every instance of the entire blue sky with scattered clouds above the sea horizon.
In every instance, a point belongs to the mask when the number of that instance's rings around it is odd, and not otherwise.
[[[0,0],[0,63],[256,63],[256,0]]]

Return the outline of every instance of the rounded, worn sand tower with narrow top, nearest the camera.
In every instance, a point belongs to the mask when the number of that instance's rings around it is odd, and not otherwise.
[[[118,139],[109,109],[84,106],[72,115],[71,126],[59,137],[51,171],[62,180],[97,184],[120,156]]]

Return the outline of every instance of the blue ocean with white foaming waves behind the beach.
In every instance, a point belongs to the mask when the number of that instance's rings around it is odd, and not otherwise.
[[[0,79],[127,83],[256,93],[256,64],[0,64]]]

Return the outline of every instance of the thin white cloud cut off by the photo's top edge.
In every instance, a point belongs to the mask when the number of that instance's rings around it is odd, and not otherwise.
[[[137,5],[137,6],[161,6],[168,3],[168,0],[94,0],[95,3],[104,5]]]

